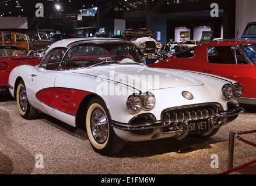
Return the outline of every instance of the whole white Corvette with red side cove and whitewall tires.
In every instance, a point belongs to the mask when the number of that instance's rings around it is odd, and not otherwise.
[[[120,152],[125,141],[210,137],[244,112],[241,84],[150,68],[134,43],[114,38],[57,41],[40,65],[15,67],[8,86],[24,119],[40,110],[84,126],[101,155]]]

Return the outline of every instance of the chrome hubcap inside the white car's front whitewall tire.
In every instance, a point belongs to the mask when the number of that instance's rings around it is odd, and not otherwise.
[[[95,109],[90,119],[90,127],[92,130],[93,138],[102,144],[107,139],[108,123],[107,116],[100,109]]]

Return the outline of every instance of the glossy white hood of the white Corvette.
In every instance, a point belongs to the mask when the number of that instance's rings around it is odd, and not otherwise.
[[[109,66],[102,66],[92,67],[87,70],[89,72],[83,74],[97,77],[98,80],[110,80],[138,89],[158,90],[172,87],[204,85],[202,81],[198,80],[198,74],[183,70],[156,69],[139,65],[117,65],[111,67],[111,69]]]

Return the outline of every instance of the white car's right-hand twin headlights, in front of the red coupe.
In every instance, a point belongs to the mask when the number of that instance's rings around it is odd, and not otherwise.
[[[243,86],[240,83],[225,84],[222,87],[224,99],[239,98],[243,94]]]

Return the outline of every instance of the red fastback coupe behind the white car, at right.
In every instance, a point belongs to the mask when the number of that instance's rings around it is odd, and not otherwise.
[[[239,103],[256,104],[256,42],[221,40],[199,44],[148,65],[215,74],[238,81],[244,92]]]

